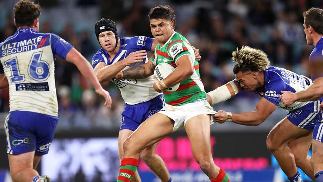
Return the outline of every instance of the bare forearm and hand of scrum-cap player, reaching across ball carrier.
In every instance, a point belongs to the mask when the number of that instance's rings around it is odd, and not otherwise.
[[[134,63],[143,62],[146,59],[146,51],[140,50],[130,53],[125,59],[118,61],[115,64],[106,66],[103,62],[96,65],[94,71],[100,82],[105,82],[115,77],[115,75],[124,69],[126,66]]]

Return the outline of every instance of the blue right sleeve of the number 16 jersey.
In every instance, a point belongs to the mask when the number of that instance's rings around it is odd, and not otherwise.
[[[51,34],[51,47],[53,53],[58,55],[62,59],[65,59],[67,53],[73,48],[70,43],[53,33]]]

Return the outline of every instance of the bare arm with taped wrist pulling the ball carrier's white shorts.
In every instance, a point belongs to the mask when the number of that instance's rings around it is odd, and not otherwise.
[[[219,123],[232,121],[241,125],[257,126],[263,123],[276,108],[275,104],[265,98],[261,98],[253,112],[226,113],[219,111],[217,114],[214,114],[214,119]]]

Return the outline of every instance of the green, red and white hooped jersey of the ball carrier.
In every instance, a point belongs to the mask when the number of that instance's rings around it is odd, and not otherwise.
[[[200,79],[199,64],[195,60],[192,46],[184,36],[174,31],[162,47],[157,44],[151,59],[154,65],[168,63],[176,68],[176,61],[183,55],[189,55],[192,58],[195,72],[186,80],[180,82],[176,91],[164,92],[165,101],[169,105],[179,106],[206,98],[204,86]]]

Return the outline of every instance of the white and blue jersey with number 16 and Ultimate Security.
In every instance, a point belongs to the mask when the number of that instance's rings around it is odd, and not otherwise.
[[[51,33],[21,28],[0,44],[0,73],[9,82],[10,112],[58,115],[54,61],[65,59],[72,46]]]

